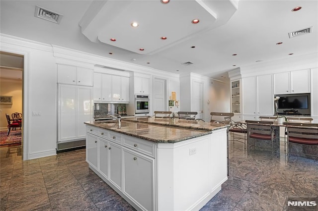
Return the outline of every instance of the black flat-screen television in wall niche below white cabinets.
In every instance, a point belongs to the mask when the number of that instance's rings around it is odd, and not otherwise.
[[[311,96],[310,93],[276,95],[277,110],[279,114],[310,115],[311,114]]]

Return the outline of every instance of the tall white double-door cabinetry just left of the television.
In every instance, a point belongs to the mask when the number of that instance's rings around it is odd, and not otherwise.
[[[274,114],[272,81],[271,74],[242,79],[244,119],[256,120],[256,115]]]

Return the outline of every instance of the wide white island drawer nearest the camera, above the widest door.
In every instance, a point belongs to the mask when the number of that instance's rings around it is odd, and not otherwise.
[[[123,137],[123,145],[127,148],[155,158],[155,144],[130,136]]]

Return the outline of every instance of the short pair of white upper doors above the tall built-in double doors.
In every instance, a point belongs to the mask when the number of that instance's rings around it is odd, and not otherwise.
[[[58,64],[58,83],[93,86],[93,70],[72,65]]]

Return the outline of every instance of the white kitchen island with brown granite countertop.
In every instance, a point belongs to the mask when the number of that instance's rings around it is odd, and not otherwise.
[[[227,180],[227,125],[145,117],[85,124],[89,168],[137,210],[199,210]]]

